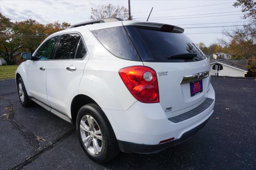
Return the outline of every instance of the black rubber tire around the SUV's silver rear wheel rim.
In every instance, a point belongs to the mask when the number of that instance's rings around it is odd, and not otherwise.
[[[88,150],[86,150],[84,142],[82,141],[82,137],[80,134],[80,121],[84,115],[92,116],[96,120],[96,123],[98,123],[98,126],[100,128],[102,135],[102,149],[98,154],[92,154]],[[84,152],[89,158],[91,158],[95,162],[108,162],[118,155],[119,147],[116,141],[114,131],[106,115],[104,114],[102,109],[100,109],[100,107],[96,104],[86,104],[80,108],[76,118],[76,131],[78,133],[79,142]]]

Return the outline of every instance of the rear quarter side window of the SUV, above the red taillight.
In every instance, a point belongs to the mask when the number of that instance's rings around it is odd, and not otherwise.
[[[116,57],[141,61],[124,27],[113,27],[92,31],[106,49]]]

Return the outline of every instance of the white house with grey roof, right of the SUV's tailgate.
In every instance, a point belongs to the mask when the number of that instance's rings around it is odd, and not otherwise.
[[[243,65],[224,59],[210,61],[210,67],[210,75],[213,76],[244,77],[248,72]]]

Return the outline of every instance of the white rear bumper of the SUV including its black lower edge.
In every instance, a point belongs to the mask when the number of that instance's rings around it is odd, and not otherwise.
[[[159,103],[144,104],[137,101],[126,111],[104,108],[102,110],[112,125],[120,150],[159,152],[188,139],[188,136],[200,129],[199,127],[203,127],[212,115],[215,104],[215,93],[211,85],[205,98],[210,98],[211,104],[201,110],[196,108],[191,109],[193,112],[187,110],[182,117],[173,117],[176,121],[166,116]],[[160,141],[171,138],[174,140],[159,144]]]

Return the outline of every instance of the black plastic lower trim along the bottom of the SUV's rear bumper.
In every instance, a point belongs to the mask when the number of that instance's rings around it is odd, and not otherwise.
[[[135,152],[135,153],[150,154],[150,153],[160,152],[168,147],[178,145],[178,144],[190,139],[190,137],[195,135],[200,129],[202,129],[204,127],[204,125],[208,122],[209,119],[210,119],[210,117],[206,121],[204,121],[202,124],[191,129],[190,131],[184,133],[180,139],[169,141],[169,142],[166,142],[163,144],[144,145],[144,144],[138,144],[138,143],[132,143],[132,142],[118,140],[118,145],[119,145],[120,150],[122,152],[126,152],[126,153],[130,153],[130,152],[134,153]]]

